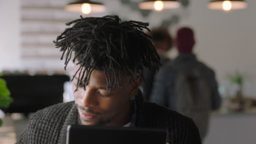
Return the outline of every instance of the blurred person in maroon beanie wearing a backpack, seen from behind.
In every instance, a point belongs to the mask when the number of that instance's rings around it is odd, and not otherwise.
[[[191,28],[178,29],[175,45],[179,55],[160,69],[150,101],[193,118],[203,140],[210,112],[220,106],[216,76],[193,53],[195,39]]]

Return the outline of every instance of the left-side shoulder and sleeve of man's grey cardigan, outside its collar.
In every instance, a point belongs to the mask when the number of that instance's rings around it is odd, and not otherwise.
[[[60,103],[34,113],[17,143],[57,143],[58,135],[74,102]]]

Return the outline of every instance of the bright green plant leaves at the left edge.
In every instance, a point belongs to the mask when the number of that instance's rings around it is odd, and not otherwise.
[[[0,76],[2,74],[0,73]],[[4,79],[0,78],[0,108],[7,108],[9,107],[10,103],[13,101],[13,99],[10,97],[10,91],[6,86],[6,82]],[[3,121],[0,119],[0,127],[2,125]]]

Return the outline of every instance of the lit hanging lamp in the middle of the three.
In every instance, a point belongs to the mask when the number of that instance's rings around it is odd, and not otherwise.
[[[144,1],[139,3],[140,9],[157,10],[161,11],[164,9],[176,9],[179,8],[180,3],[176,0],[165,0],[165,1]]]

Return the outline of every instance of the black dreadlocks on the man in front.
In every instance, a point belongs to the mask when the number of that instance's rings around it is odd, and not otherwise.
[[[78,86],[88,85],[92,70],[104,71],[107,91],[121,87],[121,75],[131,76],[134,73],[143,77],[143,68],[159,67],[160,58],[149,36],[142,30],[149,23],[139,21],[121,22],[118,16],[82,17],[66,23],[61,35],[54,41],[56,48],[62,51],[61,59],[66,56],[65,70],[72,58],[80,67],[73,75],[78,74]],[[72,79],[72,80],[73,80]],[[72,81],[71,80],[71,81]]]

